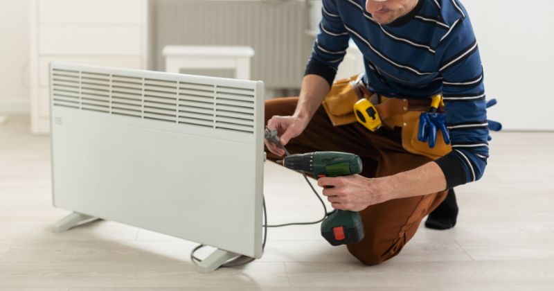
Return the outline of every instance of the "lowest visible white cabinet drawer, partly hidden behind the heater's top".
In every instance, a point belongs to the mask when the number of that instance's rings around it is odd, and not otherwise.
[[[46,87],[49,84],[48,69],[50,62],[75,62],[78,64],[93,64],[105,67],[121,67],[127,69],[144,69],[142,58],[121,57],[121,58],[39,58],[39,85]]]

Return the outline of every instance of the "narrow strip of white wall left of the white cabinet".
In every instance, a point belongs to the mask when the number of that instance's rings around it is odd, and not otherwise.
[[[27,0],[0,0],[0,112],[29,111]]]

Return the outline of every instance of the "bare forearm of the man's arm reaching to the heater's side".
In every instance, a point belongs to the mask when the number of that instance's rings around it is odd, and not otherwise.
[[[321,76],[306,75],[302,79],[300,98],[293,116],[310,121],[329,89],[329,83]]]

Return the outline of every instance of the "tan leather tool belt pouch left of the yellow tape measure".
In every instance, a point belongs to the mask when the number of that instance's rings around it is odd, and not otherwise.
[[[357,122],[354,103],[368,94],[364,82],[355,82],[357,78],[358,75],[355,75],[337,80],[323,100],[323,108],[334,126]],[[364,87],[364,90],[361,87]]]

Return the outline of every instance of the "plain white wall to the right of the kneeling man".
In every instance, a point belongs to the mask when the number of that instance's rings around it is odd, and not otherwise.
[[[554,1],[461,0],[485,69],[489,118],[506,130],[554,130]]]

